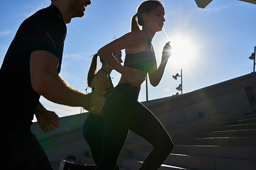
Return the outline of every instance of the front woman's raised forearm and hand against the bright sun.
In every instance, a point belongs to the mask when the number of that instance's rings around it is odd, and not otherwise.
[[[168,58],[170,56],[171,56],[171,46],[170,46],[170,42],[167,42],[166,45],[164,46],[163,53],[162,53],[162,61],[158,69],[156,69],[157,66],[156,66],[156,59],[155,59],[153,69],[150,72],[148,72],[148,76],[150,78],[150,84],[152,86],[154,87],[158,86],[160,80],[162,79]]]

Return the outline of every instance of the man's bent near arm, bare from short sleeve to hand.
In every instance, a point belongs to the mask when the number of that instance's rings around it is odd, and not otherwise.
[[[54,54],[43,50],[31,53],[30,78],[34,91],[46,97],[46,99],[71,107],[84,107],[91,112],[92,106],[96,109],[92,113],[100,114],[105,99],[102,96],[105,92],[94,92],[89,95],[83,94],[72,87],[59,76],[57,68],[59,58]]]

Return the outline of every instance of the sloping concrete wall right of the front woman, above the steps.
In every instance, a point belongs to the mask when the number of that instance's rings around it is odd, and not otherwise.
[[[249,101],[245,88],[250,87],[254,101]],[[247,113],[256,109],[256,74],[248,74],[214,84],[187,94],[144,103],[163,125]]]

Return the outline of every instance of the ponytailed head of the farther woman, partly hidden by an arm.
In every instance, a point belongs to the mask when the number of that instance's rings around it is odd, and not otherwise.
[[[113,53],[114,57],[117,59],[118,62],[122,63],[122,52],[114,52]],[[87,76],[87,86],[90,88],[92,87],[92,81],[94,78],[94,75],[96,74],[97,71],[97,66],[98,66],[98,54],[95,54],[92,58],[92,62],[90,63],[90,69],[88,71],[88,76]],[[102,66],[108,66],[110,67],[103,59],[100,58],[100,62],[102,63]],[[110,67],[112,69],[112,67]]]

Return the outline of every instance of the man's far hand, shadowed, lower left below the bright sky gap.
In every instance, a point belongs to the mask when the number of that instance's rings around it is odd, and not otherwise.
[[[45,108],[43,108],[39,113],[36,113],[36,119],[38,120],[38,124],[44,133],[60,127],[59,116],[57,116],[55,112],[48,111]]]

